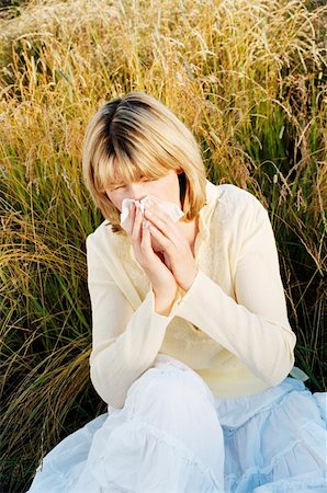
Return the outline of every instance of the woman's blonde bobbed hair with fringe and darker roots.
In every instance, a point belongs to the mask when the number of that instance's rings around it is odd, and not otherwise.
[[[206,171],[195,137],[168,107],[140,91],[100,107],[86,131],[82,163],[93,200],[117,233],[125,233],[120,210],[105,193],[115,184],[176,170],[181,220],[191,221],[205,204]]]

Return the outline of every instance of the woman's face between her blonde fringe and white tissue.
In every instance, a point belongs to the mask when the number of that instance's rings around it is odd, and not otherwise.
[[[106,195],[120,211],[122,211],[124,198],[140,200],[147,195],[155,195],[161,200],[172,202],[181,209],[180,185],[178,173],[174,170],[168,171],[165,176],[157,180],[149,181],[144,179],[140,182],[131,183],[129,185],[120,186],[114,190],[108,190]]]

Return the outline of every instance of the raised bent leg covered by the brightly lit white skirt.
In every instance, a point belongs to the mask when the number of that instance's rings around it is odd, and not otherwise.
[[[131,386],[124,408],[112,411],[94,434],[87,469],[99,482],[97,491],[224,491],[214,398],[198,374],[173,362],[158,358]]]

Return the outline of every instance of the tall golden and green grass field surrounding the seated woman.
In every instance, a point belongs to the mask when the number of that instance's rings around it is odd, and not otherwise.
[[[89,380],[81,175],[97,108],[142,90],[194,133],[214,183],[269,209],[296,366],[326,389],[327,8],[304,0],[66,0],[0,10],[1,488],[105,411]],[[12,7],[9,7],[9,5]]]

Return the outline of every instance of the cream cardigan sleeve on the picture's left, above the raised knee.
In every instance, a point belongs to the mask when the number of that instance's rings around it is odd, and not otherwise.
[[[112,408],[123,408],[131,385],[151,366],[177,301],[168,316],[155,311],[150,289],[134,310],[111,277],[103,259],[87,238],[88,287],[92,309],[90,378]]]

